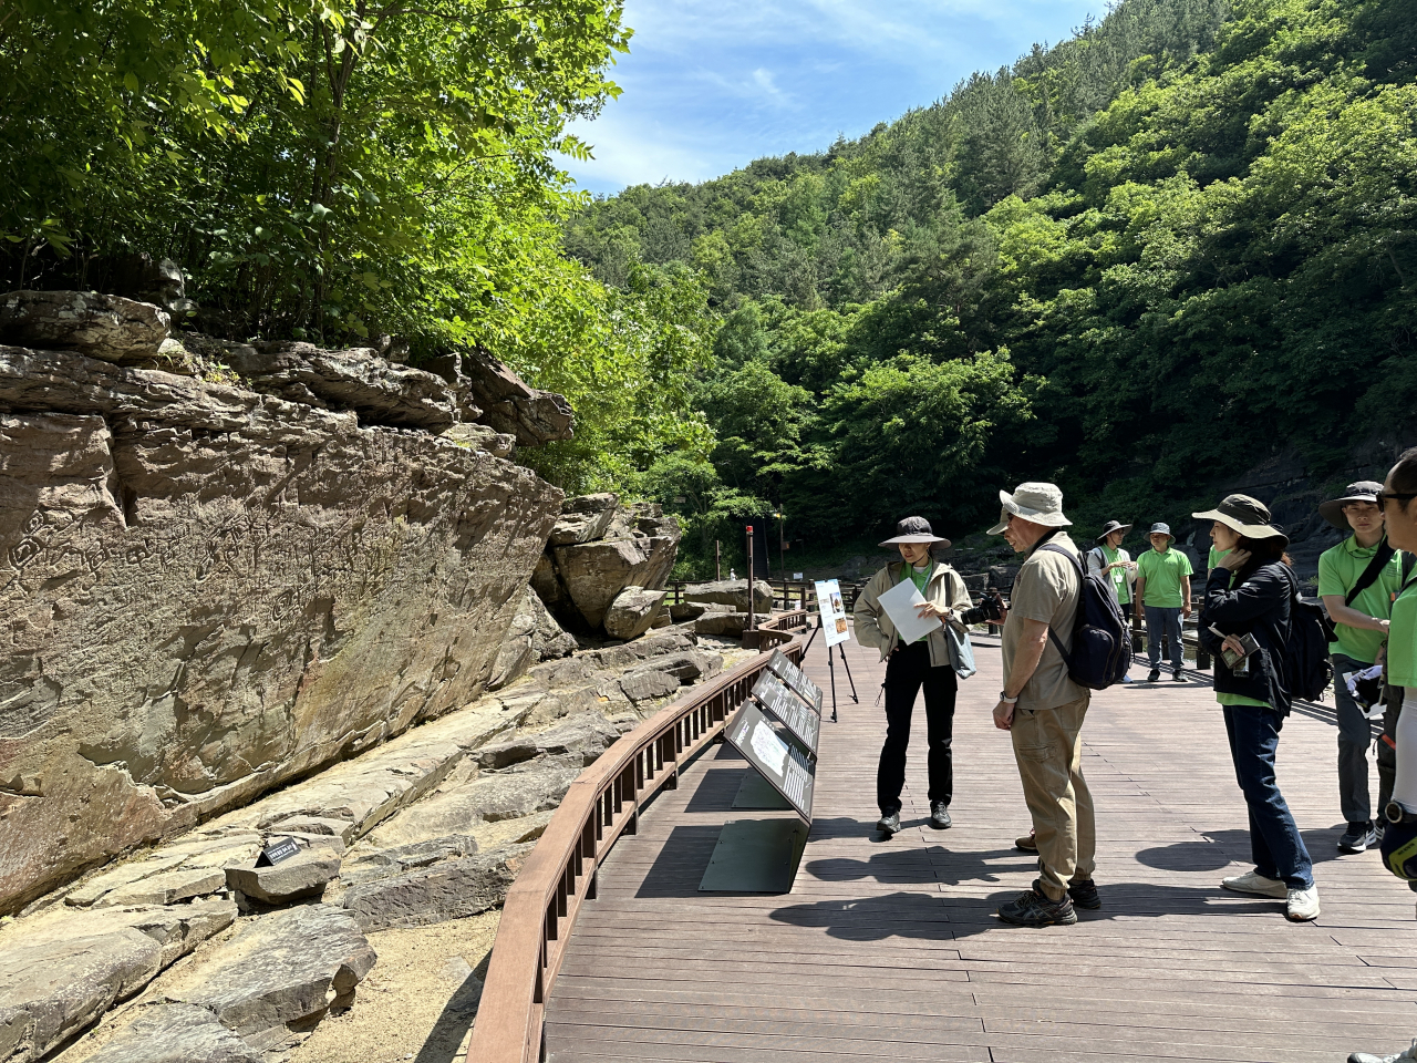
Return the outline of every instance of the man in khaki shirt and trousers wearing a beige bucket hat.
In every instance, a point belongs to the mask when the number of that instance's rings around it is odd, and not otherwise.
[[[1039,877],[1033,887],[999,909],[999,918],[1023,927],[1077,923],[1074,904],[1100,909],[1093,869],[1097,828],[1093,795],[1083,778],[1083,717],[1090,692],[1067,675],[1067,662],[1049,631],[1071,649],[1073,619],[1081,597],[1077,547],[1063,529],[1063,492],[1051,483],[1020,483],[1000,490],[1003,510],[989,534],[1003,534],[1024,556],[1013,581],[1003,624],[1003,692],[993,723],[1013,737],[1023,798],[1033,816]]]

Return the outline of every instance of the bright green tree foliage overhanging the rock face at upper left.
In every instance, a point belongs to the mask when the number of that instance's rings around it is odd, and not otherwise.
[[[105,286],[169,257],[231,337],[482,343],[578,411],[571,488],[708,446],[697,275],[606,288],[560,247],[554,152],[619,89],[621,0],[3,0],[0,275]]]

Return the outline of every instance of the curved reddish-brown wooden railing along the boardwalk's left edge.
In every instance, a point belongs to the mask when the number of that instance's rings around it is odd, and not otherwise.
[[[774,617],[764,624],[764,635],[799,660],[802,642],[782,628],[805,619],[805,612]],[[660,709],[571,784],[507,892],[468,1059],[541,1059],[546,999],[581,904],[595,897],[597,869],[621,835],[635,833],[640,805],[659,789],[673,789],[679,765],[718,736],[769,656],[758,653]]]

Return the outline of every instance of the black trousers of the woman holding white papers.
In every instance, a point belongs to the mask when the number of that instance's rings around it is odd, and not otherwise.
[[[881,815],[900,811],[905,788],[905,747],[910,746],[910,717],[915,696],[925,689],[925,724],[930,741],[930,799],[949,804],[955,775],[951,743],[955,727],[958,680],[949,665],[930,666],[925,641],[901,646],[886,663],[886,744],[876,770],[876,804]]]

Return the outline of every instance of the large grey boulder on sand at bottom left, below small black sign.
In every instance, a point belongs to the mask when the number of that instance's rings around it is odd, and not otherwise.
[[[359,923],[330,904],[258,918],[169,999],[208,1009],[256,1047],[346,1008],[377,955]]]

